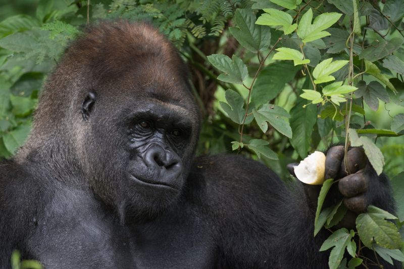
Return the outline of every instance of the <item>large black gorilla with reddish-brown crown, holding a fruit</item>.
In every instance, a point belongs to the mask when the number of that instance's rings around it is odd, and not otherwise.
[[[0,165],[1,268],[13,249],[51,269],[328,266],[310,186],[291,192],[238,156],[194,158],[187,75],[147,24],[101,22],[70,45],[26,144]],[[369,204],[393,212],[388,179],[361,153],[348,152],[363,165],[344,175],[343,148],[331,148],[327,177],[342,177],[336,191],[351,214]]]

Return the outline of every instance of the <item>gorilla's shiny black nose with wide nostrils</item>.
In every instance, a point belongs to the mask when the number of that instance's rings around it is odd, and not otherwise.
[[[144,161],[150,169],[160,170],[172,177],[178,176],[181,172],[181,161],[178,155],[159,146],[149,148],[144,156]]]

